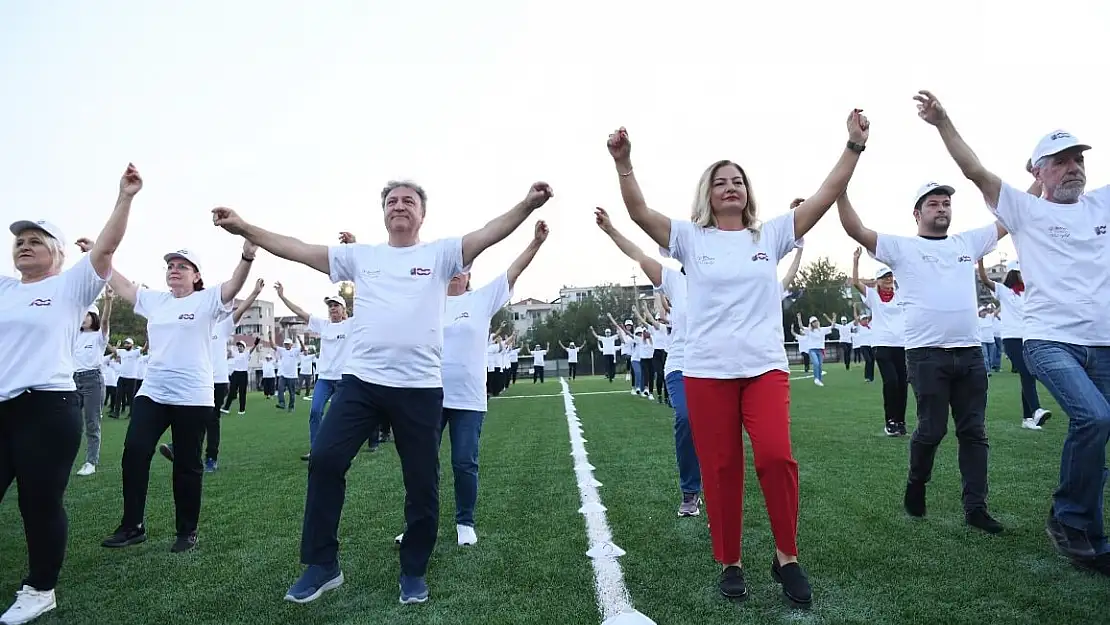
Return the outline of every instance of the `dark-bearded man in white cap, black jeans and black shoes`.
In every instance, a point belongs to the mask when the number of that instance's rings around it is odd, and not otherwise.
[[[989,534],[1002,524],[987,512],[987,366],[980,345],[976,263],[1007,231],[988,223],[949,234],[955,190],[929,182],[914,196],[916,236],[877,233],[866,228],[845,192],[837,200],[840,224],[854,240],[898,274],[905,302],[906,369],[917,397],[917,429],[910,440],[909,476],[904,506],[926,514],[926,485],[948,433],[951,410],[963,482],[963,518]],[[993,334],[990,345],[993,347]]]

